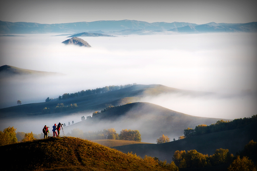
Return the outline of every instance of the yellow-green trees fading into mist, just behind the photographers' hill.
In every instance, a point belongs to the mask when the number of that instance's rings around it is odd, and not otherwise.
[[[141,134],[139,131],[130,129],[123,129],[120,134],[118,134],[114,128],[104,129],[97,132],[83,132],[83,130],[76,128],[66,135],[88,140],[127,140],[141,142]]]

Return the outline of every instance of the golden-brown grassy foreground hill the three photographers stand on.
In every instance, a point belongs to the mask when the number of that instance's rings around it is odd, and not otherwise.
[[[4,156],[1,170],[166,170],[138,157],[73,137],[0,146],[0,151]]]

